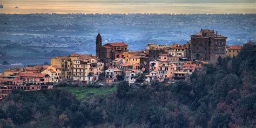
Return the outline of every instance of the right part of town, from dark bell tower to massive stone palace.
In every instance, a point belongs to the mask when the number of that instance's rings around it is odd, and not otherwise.
[[[218,57],[237,56],[242,46],[227,46],[226,38],[217,31],[201,29],[183,45],[151,43],[145,50],[128,51],[124,42],[102,45],[98,34],[96,57],[103,60],[105,82],[109,84],[123,79],[129,84],[138,84],[136,79],[142,74],[144,84],[177,82],[188,80],[192,72],[200,70],[203,64],[215,62]]]

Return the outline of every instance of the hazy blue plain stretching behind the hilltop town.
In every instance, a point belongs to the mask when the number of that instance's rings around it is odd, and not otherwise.
[[[184,44],[201,28],[218,30],[228,37],[228,45],[255,42],[255,14],[0,14],[0,17],[0,72],[15,66],[50,63],[55,56],[94,55],[98,32],[103,44],[125,42],[129,50],[144,50],[149,43]],[[2,65],[3,61],[10,65]]]

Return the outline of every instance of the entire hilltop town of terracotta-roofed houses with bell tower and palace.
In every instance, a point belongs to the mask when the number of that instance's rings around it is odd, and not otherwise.
[[[234,57],[240,45],[227,45],[227,37],[217,31],[201,29],[181,44],[147,44],[145,50],[130,51],[125,42],[102,44],[96,37],[96,55],[73,53],[56,56],[50,65],[27,66],[3,71],[0,77],[0,98],[12,90],[52,89],[59,83],[78,86],[111,85],[127,81],[130,86],[155,82],[188,81],[194,71],[219,57]]]

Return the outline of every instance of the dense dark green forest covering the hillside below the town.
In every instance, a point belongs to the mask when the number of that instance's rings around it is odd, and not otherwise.
[[[204,65],[189,82],[122,82],[83,101],[58,88],[14,91],[0,104],[0,127],[256,127],[256,45]]]

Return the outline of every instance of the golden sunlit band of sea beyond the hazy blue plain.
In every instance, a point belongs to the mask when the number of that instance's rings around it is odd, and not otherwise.
[[[256,0],[0,0],[5,14],[255,14]],[[15,8],[17,6],[17,8]]]

